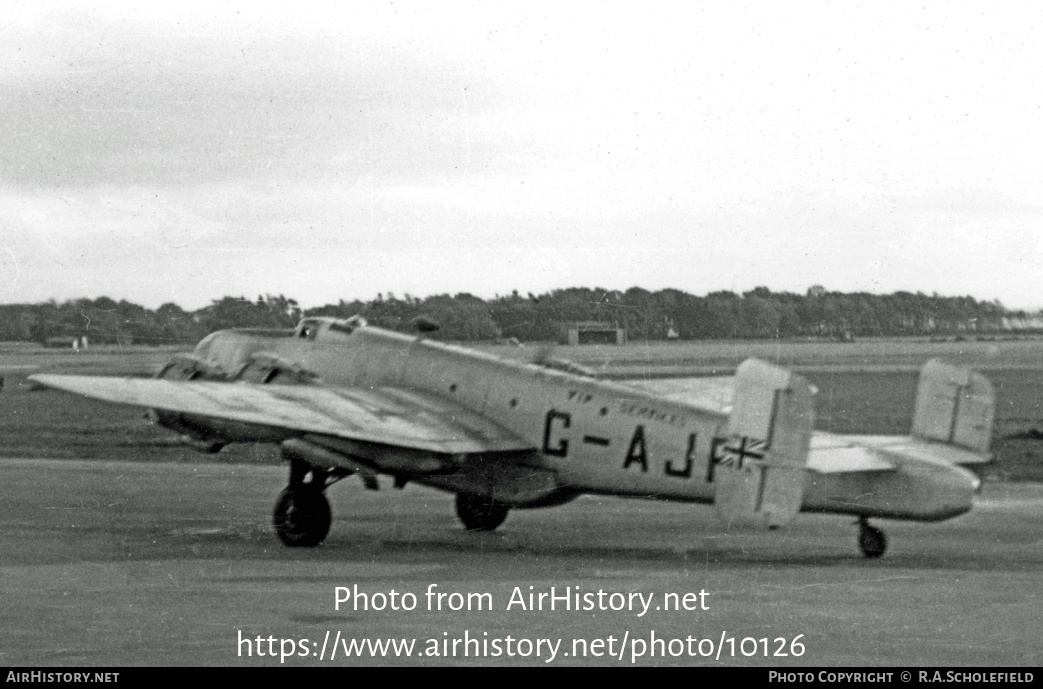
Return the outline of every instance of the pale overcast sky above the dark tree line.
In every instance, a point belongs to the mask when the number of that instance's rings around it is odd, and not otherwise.
[[[90,4],[0,14],[0,302],[1043,306],[1039,3]]]

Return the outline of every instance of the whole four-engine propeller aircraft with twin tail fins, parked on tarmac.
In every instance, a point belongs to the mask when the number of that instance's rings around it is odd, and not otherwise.
[[[294,330],[222,330],[155,378],[33,375],[47,387],[152,410],[205,451],[278,443],[289,485],[280,539],[330,531],[325,489],[358,474],[456,494],[468,530],[511,509],[584,493],[712,503],[728,526],[775,528],[801,511],[939,521],[971,509],[989,460],[994,395],[937,361],[921,372],[907,437],[812,433],[812,390],[749,360],[733,378],[608,382],[562,362],[529,364],[369,326],[306,318]]]

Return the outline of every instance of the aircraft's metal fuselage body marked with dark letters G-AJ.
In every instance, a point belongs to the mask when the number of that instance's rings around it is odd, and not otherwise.
[[[527,462],[556,476],[564,490],[713,501],[714,472],[727,442],[722,412],[380,328],[338,331],[318,319],[306,324],[292,336],[216,333],[195,355],[229,375],[265,353],[331,386],[437,393],[538,448]],[[939,520],[969,510],[974,490],[973,476],[959,467],[913,460],[897,472],[805,473],[802,510],[811,512]],[[474,490],[460,483],[465,477],[411,479]]]

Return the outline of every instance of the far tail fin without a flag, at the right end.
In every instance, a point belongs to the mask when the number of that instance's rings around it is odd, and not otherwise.
[[[986,453],[995,407],[988,378],[932,359],[920,370],[911,435]]]

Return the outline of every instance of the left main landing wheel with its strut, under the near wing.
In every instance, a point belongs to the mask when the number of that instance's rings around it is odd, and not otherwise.
[[[305,481],[309,476],[311,481]],[[290,461],[290,485],[280,493],[272,514],[275,533],[285,545],[315,547],[330,533],[330,501],[323,493],[326,476],[326,471]]]

